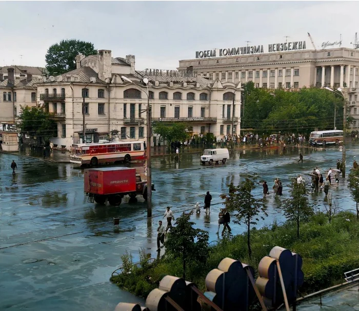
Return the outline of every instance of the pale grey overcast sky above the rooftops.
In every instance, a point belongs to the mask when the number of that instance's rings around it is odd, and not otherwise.
[[[74,38],[136,56],[136,69],[175,69],[195,51],[288,41],[352,47],[359,2],[0,2],[0,66],[45,66],[50,45]],[[22,55],[22,56],[21,56]]]

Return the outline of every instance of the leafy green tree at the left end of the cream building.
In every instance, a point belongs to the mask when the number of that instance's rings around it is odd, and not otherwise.
[[[57,124],[51,119],[50,113],[44,107],[23,107],[18,117],[20,120],[19,128],[22,132],[29,133],[31,136],[42,137],[45,142],[50,137],[57,135]]]

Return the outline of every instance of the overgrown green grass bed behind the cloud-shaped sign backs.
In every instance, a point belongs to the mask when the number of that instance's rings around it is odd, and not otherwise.
[[[205,278],[218,263],[230,257],[250,264],[256,270],[258,263],[274,246],[288,248],[303,257],[304,284],[300,295],[343,282],[344,272],[359,267],[359,222],[351,212],[334,216],[331,224],[324,213],[317,213],[307,223],[301,224],[301,236],[296,238],[296,226],[291,222],[271,228],[251,230],[252,257],[249,259],[246,235],[224,238],[218,245],[209,248],[206,263],[188,267],[186,278],[205,290]],[[146,254],[140,250],[141,263],[133,266],[129,254],[122,257],[123,272],[111,278],[122,289],[146,298],[166,276],[182,277],[182,261],[165,256],[153,263],[146,263]]]

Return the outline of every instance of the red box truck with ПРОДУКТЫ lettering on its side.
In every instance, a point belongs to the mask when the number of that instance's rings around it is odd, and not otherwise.
[[[152,184],[152,190],[154,185]],[[119,205],[124,196],[135,199],[142,195],[147,200],[147,181],[142,181],[135,168],[104,167],[85,169],[84,191],[88,201],[110,205]]]

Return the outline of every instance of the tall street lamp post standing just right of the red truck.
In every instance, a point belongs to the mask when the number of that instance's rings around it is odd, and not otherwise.
[[[130,82],[137,89],[144,91],[147,96],[147,217],[152,217],[152,173],[151,173],[151,135],[152,135],[152,118],[151,118],[151,106],[150,106],[150,96],[148,92],[148,79],[143,79],[143,82],[146,84],[147,92],[136,83],[132,82],[128,77],[122,76],[122,79]]]

